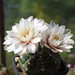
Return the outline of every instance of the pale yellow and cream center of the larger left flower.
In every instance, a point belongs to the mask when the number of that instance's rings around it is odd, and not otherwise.
[[[22,29],[19,32],[19,39],[22,42],[28,43],[33,38],[33,29]]]

